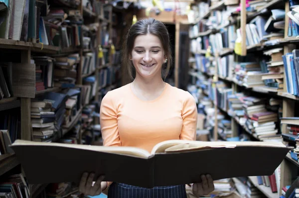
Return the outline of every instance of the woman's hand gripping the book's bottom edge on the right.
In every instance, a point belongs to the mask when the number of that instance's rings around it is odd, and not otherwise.
[[[204,196],[214,191],[214,182],[210,175],[202,175],[201,183],[192,185],[192,193],[195,196]]]

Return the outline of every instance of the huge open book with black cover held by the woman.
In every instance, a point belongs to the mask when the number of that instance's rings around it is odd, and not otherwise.
[[[152,188],[272,175],[292,148],[276,142],[168,140],[151,153],[135,147],[105,147],[16,140],[12,145],[30,184],[76,182],[83,172],[105,181]]]

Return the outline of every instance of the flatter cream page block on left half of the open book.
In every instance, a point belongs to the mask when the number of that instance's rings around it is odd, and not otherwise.
[[[54,143],[54,142],[33,142],[27,140],[15,140],[12,146],[18,145],[41,145],[41,146],[58,146],[58,147],[68,147],[76,149],[84,149],[91,151],[100,151],[106,153],[117,153],[123,155],[129,155],[140,158],[149,158],[150,153],[147,150],[140,149],[137,147],[125,147],[125,146],[94,146],[94,145],[82,145],[82,144],[63,144],[63,143]]]

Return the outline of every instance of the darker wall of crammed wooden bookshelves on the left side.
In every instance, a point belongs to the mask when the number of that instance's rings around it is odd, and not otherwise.
[[[28,185],[8,145],[102,144],[100,102],[121,85],[123,12],[104,0],[0,5],[0,197],[77,197],[72,183]]]

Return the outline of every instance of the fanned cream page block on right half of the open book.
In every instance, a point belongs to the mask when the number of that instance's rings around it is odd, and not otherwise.
[[[211,148],[235,148],[236,146],[286,147],[282,142],[205,142],[190,140],[167,140],[156,144],[151,154],[183,152]]]

